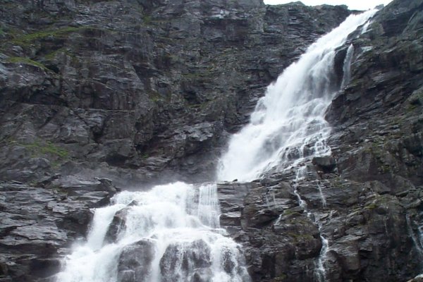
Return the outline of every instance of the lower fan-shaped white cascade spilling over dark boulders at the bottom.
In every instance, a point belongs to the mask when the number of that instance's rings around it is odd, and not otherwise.
[[[154,259],[139,262],[147,271],[136,281],[187,282],[195,275],[204,281],[249,281],[240,246],[219,228],[215,184],[172,183],[148,192],[124,191],[112,201],[109,207],[95,209],[87,243],[66,257],[58,282],[123,281],[119,258],[140,242],[152,243]],[[117,240],[107,243],[105,235],[116,212],[124,214],[125,222]]]

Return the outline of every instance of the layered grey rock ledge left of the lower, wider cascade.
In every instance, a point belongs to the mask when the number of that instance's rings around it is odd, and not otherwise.
[[[0,183],[0,280],[48,281],[114,193],[107,179]]]

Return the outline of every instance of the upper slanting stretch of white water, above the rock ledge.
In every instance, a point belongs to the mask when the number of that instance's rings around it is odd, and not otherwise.
[[[250,123],[233,135],[218,167],[219,180],[254,180],[310,157],[330,154],[324,113],[339,90],[333,82],[336,48],[376,11],[350,16],[307,49],[269,85]],[[352,49],[352,48],[351,48]],[[350,57],[353,50],[348,50]]]

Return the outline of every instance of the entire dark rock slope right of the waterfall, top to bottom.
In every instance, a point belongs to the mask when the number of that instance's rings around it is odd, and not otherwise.
[[[393,1],[339,50],[355,47],[350,83],[326,114],[331,157],[309,160],[299,181],[293,171],[219,186],[221,221],[254,281],[422,273],[422,11],[423,1]]]

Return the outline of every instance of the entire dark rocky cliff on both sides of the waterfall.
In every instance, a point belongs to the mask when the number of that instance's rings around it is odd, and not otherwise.
[[[331,158],[310,160],[301,183],[279,173],[219,186],[221,223],[254,281],[406,281],[421,270],[422,10],[394,1],[348,42],[351,80],[327,113]],[[0,281],[48,281],[114,185],[213,179],[266,85],[349,13],[260,0],[3,1]]]

